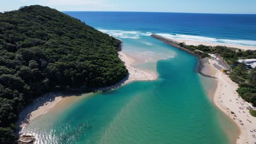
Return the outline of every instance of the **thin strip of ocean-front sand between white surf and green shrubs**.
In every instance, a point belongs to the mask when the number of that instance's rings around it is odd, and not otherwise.
[[[193,40],[181,40],[181,39],[173,39],[175,41],[178,41],[179,43],[185,43],[186,45],[208,45],[208,46],[227,46],[227,47],[235,47],[237,49],[242,50],[256,50],[256,46],[243,46],[243,45],[231,45],[231,44],[221,44],[221,43],[207,43],[202,41],[193,41]]]

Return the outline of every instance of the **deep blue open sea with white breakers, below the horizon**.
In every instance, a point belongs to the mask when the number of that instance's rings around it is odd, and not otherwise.
[[[173,39],[256,46],[256,15],[85,11],[64,13],[97,29],[116,30],[112,35],[121,38],[138,38],[139,33],[161,33],[169,34],[167,37]],[[125,33],[130,31],[137,33]]]

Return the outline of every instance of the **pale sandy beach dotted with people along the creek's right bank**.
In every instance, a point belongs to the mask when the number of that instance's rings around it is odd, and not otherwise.
[[[218,64],[210,59],[209,63],[205,65],[207,68],[216,69],[213,66],[214,63]],[[256,117],[251,116],[246,101],[239,97],[236,92],[237,83],[231,81],[228,75],[218,69],[208,74],[218,77],[218,85],[213,97],[214,104],[240,128],[240,136],[237,137],[236,143],[255,143],[256,139],[253,135],[256,135],[256,131],[254,131],[256,129]]]

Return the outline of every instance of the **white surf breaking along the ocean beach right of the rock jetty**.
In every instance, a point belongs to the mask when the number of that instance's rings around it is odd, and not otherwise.
[[[181,39],[181,40],[192,40],[192,41],[202,41],[207,43],[224,43],[224,44],[232,44],[232,45],[249,45],[249,46],[256,46],[255,40],[232,40],[232,39],[217,39],[217,38],[210,38],[210,37],[201,37],[195,35],[183,35],[183,34],[166,34],[166,33],[159,33],[162,37],[169,38],[169,39]]]

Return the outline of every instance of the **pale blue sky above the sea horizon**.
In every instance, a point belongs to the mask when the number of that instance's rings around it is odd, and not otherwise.
[[[0,0],[0,11],[40,4],[61,11],[256,14],[256,0]]]

